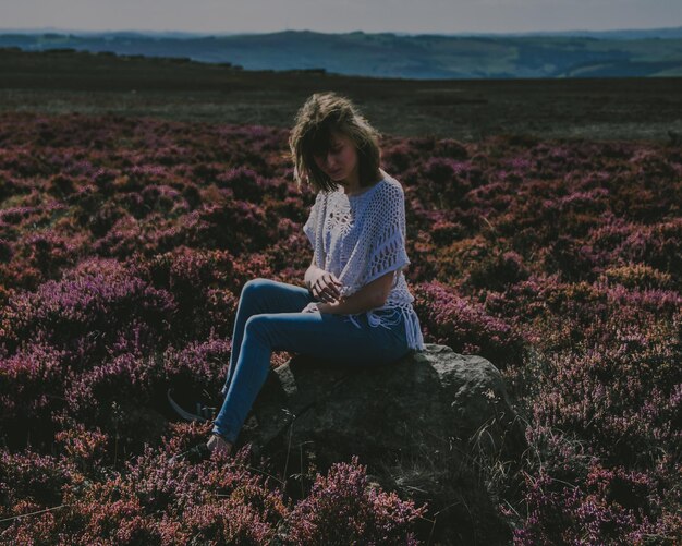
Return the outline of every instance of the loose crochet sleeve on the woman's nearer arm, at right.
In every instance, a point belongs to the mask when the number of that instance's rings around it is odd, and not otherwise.
[[[389,271],[410,264],[405,251],[405,196],[400,184],[390,184],[367,210],[366,258],[360,284],[364,286]]]

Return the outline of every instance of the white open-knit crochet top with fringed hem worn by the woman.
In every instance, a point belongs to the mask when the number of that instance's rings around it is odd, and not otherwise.
[[[341,295],[350,295],[389,271],[393,284],[386,304],[366,312],[370,326],[395,325],[401,313],[407,343],[423,351],[424,338],[414,312],[403,268],[410,264],[405,251],[405,196],[395,179],[381,170],[383,179],[361,194],[342,189],[319,192],[303,231],[310,240],[317,267],[341,281]],[[382,313],[377,314],[376,312]],[[393,313],[386,313],[393,311]],[[346,315],[360,328],[357,315]]]

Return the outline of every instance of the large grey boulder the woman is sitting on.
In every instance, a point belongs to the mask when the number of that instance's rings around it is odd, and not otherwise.
[[[509,471],[526,442],[499,371],[480,356],[427,344],[375,368],[296,357],[270,374],[253,414],[242,441],[292,474],[357,454],[382,487],[438,514],[427,536],[509,542],[496,472]]]

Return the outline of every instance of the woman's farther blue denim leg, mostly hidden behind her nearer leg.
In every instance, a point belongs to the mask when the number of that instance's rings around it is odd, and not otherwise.
[[[227,393],[234,375],[236,361],[242,349],[246,321],[253,315],[260,313],[295,313],[312,301],[313,296],[306,289],[294,284],[269,279],[253,279],[244,284],[234,319],[230,365],[226,383],[221,389],[222,395]]]

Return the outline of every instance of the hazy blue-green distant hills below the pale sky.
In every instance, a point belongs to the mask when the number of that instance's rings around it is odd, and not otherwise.
[[[27,51],[181,57],[246,70],[309,70],[417,80],[649,77],[682,75],[682,28],[533,35],[272,34],[193,36],[139,33],[0,35]]]

